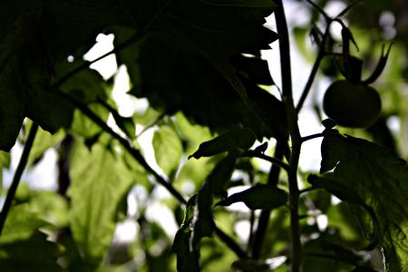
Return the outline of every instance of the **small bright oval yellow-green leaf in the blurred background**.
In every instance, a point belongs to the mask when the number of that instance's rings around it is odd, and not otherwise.
[[[164,125],[153,135],[154,156],[161,170],[167,175],[175,172],[183,152],[179,135],[170,126]]]

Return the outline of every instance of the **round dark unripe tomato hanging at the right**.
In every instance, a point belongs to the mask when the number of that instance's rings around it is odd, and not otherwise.
[[[380,116],[381,99],[368,85],[339,80],[325,91],[323,111],[343,127],[366,128]]]

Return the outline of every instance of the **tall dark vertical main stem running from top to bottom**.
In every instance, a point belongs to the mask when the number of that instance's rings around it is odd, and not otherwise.
[[[292,77],[290,67],[289,34],[287,32],[287,20],[282,0],[275,0],[277,9],[275,18],[277,21],[277,34],[279,34],[279,53],[282,74],[283,102],[287,112],[287,121],[290,139],[292,141],[292,152],[289,159],[289,170],[287,172],[289,184],[289,207],[290,207],[290,267],[291,272],[299,272],[301,266],[301,242],[299,229],[299,189],[297,187],[297,165],[299,162],[302,137],[297,125],[297,112],[292,95]]]

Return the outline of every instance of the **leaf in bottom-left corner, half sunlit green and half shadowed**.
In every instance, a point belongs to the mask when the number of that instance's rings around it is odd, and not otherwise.
[[[57,246],[38,230],[46,225],[29,204],[12,207],[0,237],[2,271],[62,271]]]

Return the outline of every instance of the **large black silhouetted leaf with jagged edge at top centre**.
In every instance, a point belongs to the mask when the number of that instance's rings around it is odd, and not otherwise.
[[[146,24],[164,3],[149,5],[149,12],[143,15],[141,6],[128,6],[135,21]],[[267,124],[248,103],[245,86],[230,63],[230,58],[258,53],[276,40],[277,35],[262,26],[264,17],[273,11],[271,4],[267,6],[245,7],[242,1],[228,2],[228,6],[209,1],[172,2],[133,49],[131,59],[125,61],[132,66],[131,94],[147,97],[155,109],[170,114],[182,111],[189,120],[209,126],[211,131],[244,125],[258,138],[271,137],[264,135],[265,128],[257,130]],[[138,68],[133,67],[134,59]],[[264,64],[250,70],[265,75]]]

